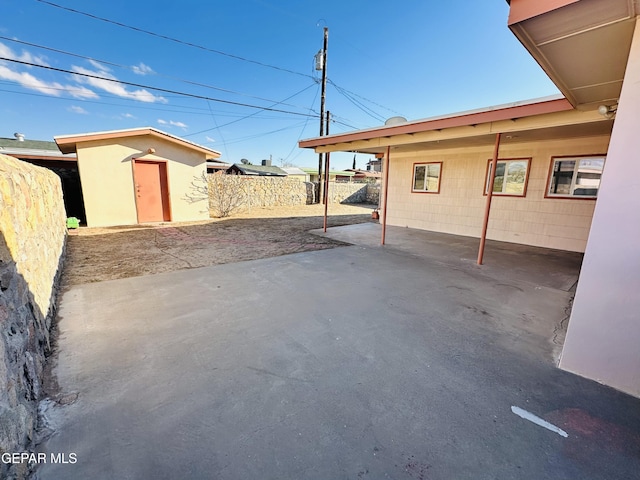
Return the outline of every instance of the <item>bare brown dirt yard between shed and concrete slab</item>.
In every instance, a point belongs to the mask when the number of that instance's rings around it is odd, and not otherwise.
[[[330,205],[328,226],[373,221],[372,205]],[[324,206],[268,207],[225,219],[69,231],[63,287],[323,250],[344,243],[309,233]],[[377,221],[377,220],[376,220]]]

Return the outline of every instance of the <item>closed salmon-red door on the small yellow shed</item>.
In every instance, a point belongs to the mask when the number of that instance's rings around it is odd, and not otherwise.
[[[136,186],[138,222],[167,222],[171,220],[167,164],[135,160],[133,175]]]

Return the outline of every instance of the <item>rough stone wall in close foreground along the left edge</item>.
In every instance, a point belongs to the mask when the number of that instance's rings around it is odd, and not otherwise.
[[[0,155],[0,454],[34,440],[66,242],[59,177]],[[25,464],[0,462],[0,478]]]

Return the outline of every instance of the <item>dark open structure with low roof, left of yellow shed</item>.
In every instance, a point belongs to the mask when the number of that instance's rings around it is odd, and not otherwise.
[[[55,142],[28,140],[20,133],[16,133],[14,137],[0,138],[0,153],[45,167],[57,174],[62,183],[67,217],[76,217],[81,222],[85,222],[84,201],[75,153],[63,154]]]

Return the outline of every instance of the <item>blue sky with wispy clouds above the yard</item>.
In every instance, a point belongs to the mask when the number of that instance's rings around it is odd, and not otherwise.
[[[558,93],[507,28],[504,0],[48,2],[2,0],[0,57],[40,66],[0,61],[0,137],[152,126],[231,163],[317,166],[297,142],[319,133],[324,26],[331,133]]]

